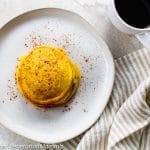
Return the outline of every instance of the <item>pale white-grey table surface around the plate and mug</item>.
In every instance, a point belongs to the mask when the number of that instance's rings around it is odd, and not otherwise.
[[[131,35],[118,31],[107,16],[109,0],[0,0],[0,27],[14,16],[43,7],[72,10],[84,17],[108,44],[114,58],[142,47]],[[0,126],[1,144],[36,144]]]

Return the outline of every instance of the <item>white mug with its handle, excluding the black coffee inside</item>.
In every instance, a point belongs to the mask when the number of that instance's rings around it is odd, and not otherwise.
[[[128,11],[128,10],[127,10]],[[120,31],[135,35],[139,41],[147,48],[150,48],[150,27],[136,28],[127,24],[118,14],[115,6],[115,0],[110,0],[109,5],[109,18],[113,25]]]

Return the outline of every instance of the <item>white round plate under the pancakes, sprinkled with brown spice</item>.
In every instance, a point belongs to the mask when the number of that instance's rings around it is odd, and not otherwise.
[[[36,45],[64,47],[81,69],[80,87],[67,106],[26,104],[15,85],[18,58]],[[43,143],[71,139],[88,129],[106,106],[114,80],[112,55],[79,15],[57,8],[27,12],[0,30],[0,122]]]

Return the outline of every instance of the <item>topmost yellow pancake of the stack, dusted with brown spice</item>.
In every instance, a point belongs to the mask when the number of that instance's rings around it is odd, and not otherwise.
[[[29,99],[46,100],[66,91],[72,83],[72,69],[63,49],[34,48],[22,57],[17,69],[19,89]]]

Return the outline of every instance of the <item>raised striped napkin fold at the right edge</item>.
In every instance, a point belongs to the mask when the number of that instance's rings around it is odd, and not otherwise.
[[[150,123],[148,94],[150,78],[144,81],[117,112],[108,139],[108,149]],[[120,133],[117,134],[116,133]]]

